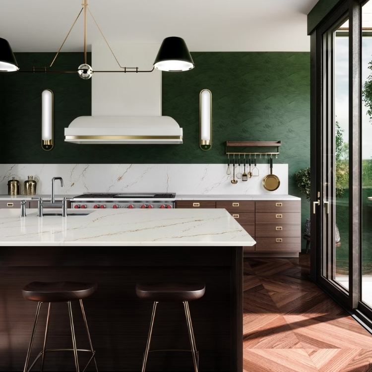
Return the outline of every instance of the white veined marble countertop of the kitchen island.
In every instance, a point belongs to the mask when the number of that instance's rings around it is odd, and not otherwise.
[[[61,210],[48,209],[48,213]],[[76,210],[68,209],[68,212]],[[83,213],[86,211],[79,211]],[[89,211],[90,212],[90,211]],[[224,209],[96,209],[86,216],[37,217],[0,209],[0,246],[253,246]]]

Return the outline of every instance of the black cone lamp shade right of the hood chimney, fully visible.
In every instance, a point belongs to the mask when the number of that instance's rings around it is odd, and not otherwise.
[[[187,71],[194,68],[195,65],[185,40],[176,36],[165,38],[155,58],[154,67],[171,72]]]

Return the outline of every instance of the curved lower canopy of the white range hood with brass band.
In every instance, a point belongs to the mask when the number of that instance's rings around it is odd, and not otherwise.
[[[80,116],[64,136],[80,144],[181,144],[183,132],[169,116]]]

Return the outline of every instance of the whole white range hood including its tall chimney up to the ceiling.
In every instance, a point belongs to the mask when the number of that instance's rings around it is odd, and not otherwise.
[[[159,45],[112,45],[119,61],[152,69]],[[92,45],[93,70],[122,70],[106,45]],[[92,116],[64,128],[78,144],[182,144],[183,131],[162,116],[162,73],[97,73],[92,77]]]

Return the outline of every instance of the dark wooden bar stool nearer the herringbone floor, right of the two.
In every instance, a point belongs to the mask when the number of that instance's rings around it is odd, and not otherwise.
[[[148,333],[145,353],[143,355],[142,372],[145,372],[147,357],[150,349],[152,327],[154,325],[156,306],[159,302],[182,302],[185,308],[186,322],[188,329],[188,337],[190,339],[192,361],[195,372],[199,370],[199,352],[196,350],[194,332],[192,329],[190,310],[188,302],[197,300],[203,297],[205,293],[204,283],[141,283],[135,286],[135,292],[140,299],[150,300],[154,302],[152,309],[150,330]],[[162,350],[151,350],[162,351]]]

